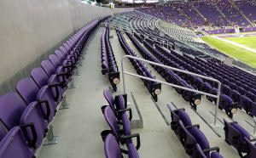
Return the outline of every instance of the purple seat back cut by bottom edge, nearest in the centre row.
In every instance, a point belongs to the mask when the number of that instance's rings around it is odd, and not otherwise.
[[[104,150],[106,158],[120,158],[122,157],[121,149],[119,147],[118,142],[110,133],[104,142]]]

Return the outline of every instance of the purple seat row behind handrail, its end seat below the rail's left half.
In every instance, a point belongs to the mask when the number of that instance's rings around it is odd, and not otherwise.
[[[117,31],[119,42],[121,44],[121,47],[124,49],[125,54],[129,54],[131,56],[137,56],[133,50],[128,46],[127,42],[125,41],[125,38],[122,36],[122,33],[120,31]],[[151,74],[150,71],[148,71],[147,67],[143,64],[142,61],[136,60],[136,59],[130,59],[131,65],[136,69],[137,74],[141,76],[146,76],[152,79],[155,79],[155,76]],[[161,93],[161,84],[157,82],[151,82],[148,80],[143,80],[144,85],[148,88],[148,92],[152,95],[154,101],[157,101],[157,96]]]

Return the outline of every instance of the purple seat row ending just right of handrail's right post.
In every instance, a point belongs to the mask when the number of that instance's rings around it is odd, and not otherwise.
[[[159,45],[155,45],[155,48],[153,48],[149,42],[144,41],[143,43],[144,43],[145,47],[148,48],[148,50],[151,50],[151,53],[154,54],[156,58],[160,59],[160,61],[163,62],[163,64],[170,65],[170,66],[176,67],[178,69],[192,71],[192,72],[207,76],[207,74],[197,71],[197,69],[193,65],[188,65],[187,62],[183,61],[182,59],[178,59],[175,55],[173,55],[169,52],[166,52],[166,50],[164,50],[163,48],[160,48]],[[177,75],[181,76],[184,79],[184,81],[186,81],[186,82],[183,82],[183,84],[182,84],[183,86],[186,85],[186,87],[191,87],[191,88],[193,87],[197,90],[201,90],[206,93],[212,93],[215,95],[217,95],[217,93],[218,93],[217,88],[212,87],[207,80],[203,80],[196,76],[185,75],[183,73],[177,73]],[[178,91],[180,91],[180,90],[178,90]],[[187,93],[186,91],[183,91],[183,92]],[[197,97],[197,99],[199,99],[198,95],[195,95],[195,97]],[[190,101],[190,103],[193,104],[193,101],[195,102],[195,100],[196,100],[195,97],[192,97],[192,100]],[[207,99],[216,103],[216,99],[214,99],[212,97],[207,97]],[[196,106],[194,105],[192,107],[196,107]],[[226,114],[228,116],[232,117],[233,114],[236,113],[237,104],[234,103],[234,101],[232,99],[230,99],[229,96],[226,96],[226,95],[224,95],[224,93],[222,93],[220,95],[219,108],[224,109]],[[196,110],[196,108],[195,108],[195,110]]]

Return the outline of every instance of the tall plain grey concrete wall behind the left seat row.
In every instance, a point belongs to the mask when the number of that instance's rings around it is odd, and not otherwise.
[[[0,94],[54,53],[74,31],[97,17],[133,8],[102,8],[79,0],[0,1]]]

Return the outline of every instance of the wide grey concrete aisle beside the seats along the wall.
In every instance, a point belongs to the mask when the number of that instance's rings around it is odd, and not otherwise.
[[[59,143],[44,146],[39,158],[104,157],[100,133],[108,125],[100,107],[106,104],[102,91],[108,87],[108,80],[101,73],[101,35],[100,27],[85,48],[81,76],[75,76],[76,88],[67,91],[71,108],[55,116],[54,132],[60,136]]]

